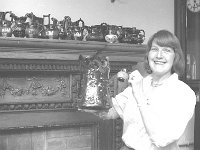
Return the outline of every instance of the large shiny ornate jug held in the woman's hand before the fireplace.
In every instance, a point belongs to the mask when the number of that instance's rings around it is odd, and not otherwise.
[[[79,57],[82,70],[81,109],[107,110],[109,108],[109,60],[107,57],[94,55]]]

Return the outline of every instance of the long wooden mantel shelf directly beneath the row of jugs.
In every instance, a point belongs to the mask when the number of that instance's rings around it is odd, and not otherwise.
[[[0,37],[0,58],[77,60],[100,52],[111,61],[142,61],[146,45],[56,39]]]

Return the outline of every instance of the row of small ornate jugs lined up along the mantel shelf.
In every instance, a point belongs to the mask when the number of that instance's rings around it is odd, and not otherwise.
[[[87,26],[81,18],[73,22],[69,16],[58,21],[50,14],[41,18],[31,12],[18,17],[7,11],[0,12],[0,36],[141,44],[145,32],[107,23]]]

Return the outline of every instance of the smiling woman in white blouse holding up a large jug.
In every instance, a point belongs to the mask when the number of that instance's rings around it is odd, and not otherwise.
[[[112,98],[112,108],[103,119],[123,119],[121,150],[177,150],[177,141],[194,113],[194,91],[180,81],[184,57],[180,42],[169,31],[160,30],[147,43],[146,68],[129,75],[128,86]]]

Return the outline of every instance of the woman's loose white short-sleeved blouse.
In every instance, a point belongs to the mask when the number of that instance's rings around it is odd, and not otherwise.
[[[176,73],[148,92],[151,81],[151,75],[143,78],[143,94],[149,104],[143,109],[157,118],[152,121],[155,132],[151,137],[146,132],[132,88],[127,87],[112,98],[113,107],[124,122],[122,139],[135,150],[177,150],[177,140],[194,113],[195,93]]]

